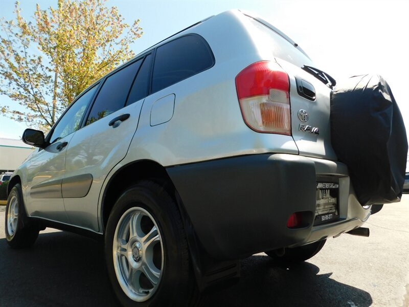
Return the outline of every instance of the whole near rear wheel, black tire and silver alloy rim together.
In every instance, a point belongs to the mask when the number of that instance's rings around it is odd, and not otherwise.
[[[148,218],[144,221],[140,216]],[[152,233],[160,249],[148,252],[147,245],[158,247]],[[108,276],[122,305],[135,301],[141,305],[190,305],[198,299],[182,217],[162,184],[141,180],[121,193],[109,215],[104,243]],[[133,256],[134,246],[139,246],[138,258]],[[131,282],[129,276],[133,276]]]

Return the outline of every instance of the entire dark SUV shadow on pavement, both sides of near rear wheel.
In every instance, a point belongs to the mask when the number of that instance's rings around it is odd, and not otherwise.
[[[206,306],[370,306],[369,293],[337,282],[308,262],[273,266],[267,256],[242,261],[235,286],[210,294]],[[42,233],[31,249],[12,250],[0,239],[0,305],[117,305],[102,244],[67,232]]]

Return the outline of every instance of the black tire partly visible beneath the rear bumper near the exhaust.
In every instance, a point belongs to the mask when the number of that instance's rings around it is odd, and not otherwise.
[[[265,253],[278,264],[297,264],[315,256],[323,248],[325,242],[326,239],[299,247],[285,248],[284,253],[282,249]]]

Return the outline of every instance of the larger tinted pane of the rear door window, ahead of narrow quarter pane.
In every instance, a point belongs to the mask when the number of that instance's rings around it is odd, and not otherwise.
[[[109,76],[102,85],[86,124],[91,124],[125,106],[125,100],[142,59]]]

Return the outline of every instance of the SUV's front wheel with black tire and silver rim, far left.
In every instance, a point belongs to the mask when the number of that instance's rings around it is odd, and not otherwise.
[[[9,223],[10,207],[17,209],[14,223]],[[13,210],[13,212],[15,211]],[[10,212],[10,214],[12,213]],[[7,243],[14,249],[31,247],[38,237],[38,227],[28,221],[22,199],[21,185],[18,183],[11,189],[7,200],[4,226]]]

